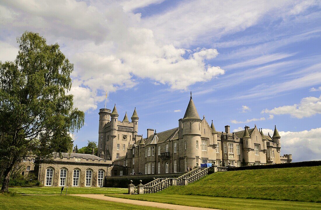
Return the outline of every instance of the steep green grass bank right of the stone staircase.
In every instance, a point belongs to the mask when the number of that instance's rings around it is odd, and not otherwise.
[[[321,202],[321,166],[217,172],[159,193]]]

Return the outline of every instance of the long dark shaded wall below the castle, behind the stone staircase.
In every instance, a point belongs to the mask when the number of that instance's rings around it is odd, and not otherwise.
[[[185,173],[186,172],[105,177],[104,187],[127,188],[130,180],[133,181],[134,185],[138,185],[140,183],[139,180],[142,180],[143,184],[147,184],[153,181],[154,178],[177,178]]]

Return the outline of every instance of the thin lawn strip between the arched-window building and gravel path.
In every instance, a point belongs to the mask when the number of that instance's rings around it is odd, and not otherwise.
[[[63,194],[66,193],[66,187]],[[39,188],[9,188],[10,192],[17,192],[20,194],[34,194],[34,195],[53,195],[60,194],[60,187],[39,187]],[[126,188],[80,188],[68,187],[67,194],[123,194],[128,193]]]

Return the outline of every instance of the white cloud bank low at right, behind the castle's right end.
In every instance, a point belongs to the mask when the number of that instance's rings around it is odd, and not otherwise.
[[[263,129],[263,133],[273,135],[273,130]],[[298,132],[279,131],[281,136],[281,156],[292,154],[293,162],[321,160],[321,128]]]

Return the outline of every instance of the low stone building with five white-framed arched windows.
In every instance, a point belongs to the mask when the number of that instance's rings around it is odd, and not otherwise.
[[[102,187],[111,165],[96,155],[57,153],[39,164],[38,179],[42,186]]]

